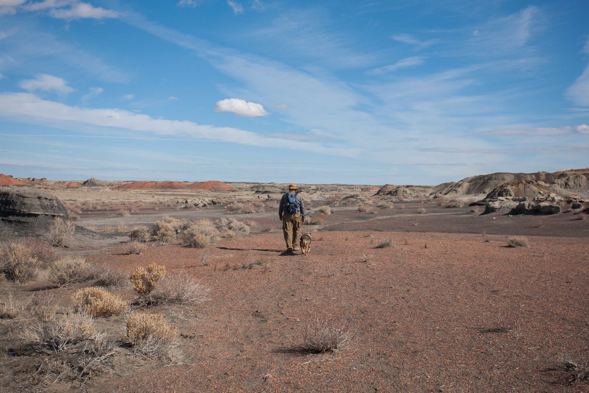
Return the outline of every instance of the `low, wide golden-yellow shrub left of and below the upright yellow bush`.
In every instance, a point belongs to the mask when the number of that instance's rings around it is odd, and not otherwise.
[[[128,309],[128,304],[101,287],[88,287],[77,290],[72,296],[74,308],[94,317],[120,315]]]

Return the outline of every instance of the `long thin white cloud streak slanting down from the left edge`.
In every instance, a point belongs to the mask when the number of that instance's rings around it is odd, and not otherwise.
[[[123,109],[72,107],[54,101],[42,100],[29,93],[0,93],[0,116],[28,123],[75,126],[78,131],[83,130],[81,126],[114,127],[155,135],[220,140],[244,145],[306,150],[346,157],[359,156],[358,149],[326,148],[313,142],[265,137],[250,131],[231,127],[198,125],[187,120],[154,119],[146,114],[133,113]]]

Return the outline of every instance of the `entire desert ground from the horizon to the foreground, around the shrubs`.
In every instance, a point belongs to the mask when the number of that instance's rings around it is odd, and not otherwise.
[[[277,215],[284,185],[22,183],[8,188],[42,188],[75,220],[65,247],[53,247],[56,259],[84,258],[124,277],[156,263],[166,277],[198,283],[201,296],[183,304],[145,302],[126,279],[105,285],[126,306],[93,319],[112,350],[97,355],[92,361],[102,366],[90,372],[94,365],[71,366],[49,347],[27,346],[23,332],[74,312],[75,294],[96,284],[56,284],[51,265],[25,283],[2,280],[4,391],[589,391],[589,205],[583,195],[562,202],[559,214],[504,208],[482,214],[488,207],[475,202],[487,192],[378,195],[380,186],[301,185],[309,213],[301,229],[313,238],[303,256],[284,252]],[[577,208],[568,211],[565,204]],[[186,230],[177,230],[128,253],[134,227],[145,225],[153,236],[159,220],[180,228],[223,218],[248,229],[217,226],[221,236],[203,247],[190,247]],[[35,228],[23,227],[20,235],[44,238]],[[14,233],[0,233],[8,243],[18,241]],[[514,244],[514,236],[522,243]],[[54,316],[35,315],[41,296],[52,299]],[[139,351],[128,342],[127,321],[143,313],[161,314],[175,326],[173,353]],[[314,351],[308,336],[317,319],[349,333],[349,341]]]

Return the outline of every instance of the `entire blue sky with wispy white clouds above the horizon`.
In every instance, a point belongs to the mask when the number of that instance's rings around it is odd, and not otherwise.
[[[589,2],[0,0],[0,172],[439,184],[589,165]]]

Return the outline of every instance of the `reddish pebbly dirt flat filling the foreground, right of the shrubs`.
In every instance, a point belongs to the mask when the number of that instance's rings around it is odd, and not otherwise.
[[[371,235],[372,237],[366,237]],[[392,237],[396,247],[374,248]],[[308,257],[283,256],[282,234],[205,250],[97,254],[112,266],[191,274],[211,300],[176,319],[190,365],[110,374],[91,392],[581,392],[545,371],[589,351],[589,245],[576,238],[314,232]],[[488,237],[487,237],[488,238]],[[427,244],[427,248],[424,245]],[[368,263],[361,263],[362,256]],[[200,266],[206,256],[208,266]],[[269,269],[224,270],[269,258]],[[153,307],[170,314],[169,307]],[[351,349],[298,351],[303,323],[327,317],[359,332]],[[502,321],[504,320],[504,322]],[[493,332],[507,326],[505,332]]]

